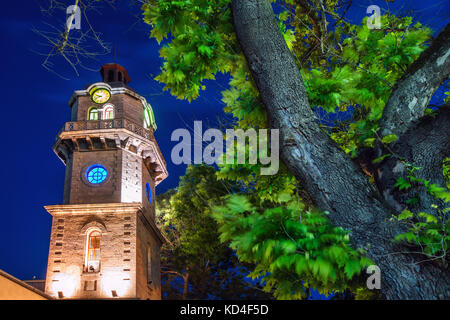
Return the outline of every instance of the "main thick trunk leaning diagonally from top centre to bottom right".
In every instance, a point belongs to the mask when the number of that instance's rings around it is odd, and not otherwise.
[[[281,159],[331,221],[351,231],[356,247],[381,268],[382,293],[390,299],[450,296],[450,272],[415,264],[397,252],[393,236],[401,226],[364,174],[320,130],[302,77],[277,26],[268,0],[233,0],[238,41],[258,87],[272,128],[280,130]]]

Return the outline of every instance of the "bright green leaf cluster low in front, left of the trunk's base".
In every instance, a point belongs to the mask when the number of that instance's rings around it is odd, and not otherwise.
[[[215,209],[221,240],[230,242],[241,261],[256,264],[251,276],[264,282],[264,290],[275,289],[278,299],[307,298],[309,288],[343,291],[371,264],[326,213],[303,211],[288,195],[282,202],[263,209],[235,194]]]

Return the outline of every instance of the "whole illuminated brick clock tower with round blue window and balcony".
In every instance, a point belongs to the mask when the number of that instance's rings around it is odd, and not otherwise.
[[[66,165],[45,292],[59,299],[161,299],[155,187],[168,173],[153,111],[120,65],[70,98],[71,121],[53,146]]]

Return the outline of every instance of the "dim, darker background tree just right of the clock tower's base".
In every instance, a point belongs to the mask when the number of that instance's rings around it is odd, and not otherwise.
[[[270,298],[245,281],[247,266],[219,241],[210,205],[219,203],[230,187],[217,181],[213,167],[189,166],[176,190],[157,197],[157,223],[168,239],[161,252],[167,298]]]

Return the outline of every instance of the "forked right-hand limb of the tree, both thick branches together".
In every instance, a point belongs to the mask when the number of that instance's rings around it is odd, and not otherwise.
[[[416,188],[402,194],[393,188],[397,178],[406,175],[405,166],[399,158],[420,167],[416,172],[419,178],[445,186],[442,161],[450,155],[449,106],[440,110],[436,119],[422,117],[432,95],[449,75],[450,24],[447,24],[396,83],[380,120],[382,136],[395,134],[399,137],[399,140],[388,146],[389,150],[377,144],[376,157],[382,153],[395,155],[383,161],[375,171],[381,193],[397,210],[403,210],[402,203],[418,191]],[[419,204],[414,207],[417,211],[431,213],[434,211],[431,204],[443,204],[427,194],[425,188],[418,189],[422,192]]]

